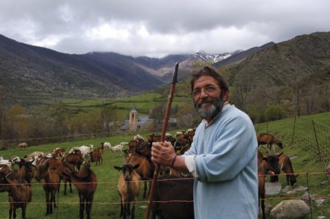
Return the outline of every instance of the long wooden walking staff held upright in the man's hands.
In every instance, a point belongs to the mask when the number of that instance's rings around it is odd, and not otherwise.
[[[179,63],[175,64],[175,69],[174,69],[173,76],[172,76],[172,82],[170,84],[170,95],[168,95],[164,123],[163,123],[163,128],[162,128],[162,136],[160,137],[160,141],[162,141],[162,142],[165,141],[168,118],[170,117],[170,107],[172,106],[175,83],[177,82],[177,69],[179,69]],[[157,181],[157,178],[158,178],[159,168],[160,168],[160,165],[157,164],[156,168],[155,168],[155,172],[153,173],[153,182],[151,183],[151,188],[150,188],[149,198],[148,198],[148,207],[146,208],[146,216],[145,216],[146,219],[148,219],[150,217],[151,205],[153,204],[153,189],[155,187],[155,181]]]

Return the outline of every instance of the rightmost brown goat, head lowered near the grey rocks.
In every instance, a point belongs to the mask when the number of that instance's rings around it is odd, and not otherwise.
[[[281,170],[285,172],[285,177],[287,178],[287,185],[294,186],[297,181],[297,176],[299,174],[294,174],[294,168],[289,157],[285,154],[280,154],[278,157],[278,163],[280,164]],[[278,176],[270,176],[270,182],[278,182]]]

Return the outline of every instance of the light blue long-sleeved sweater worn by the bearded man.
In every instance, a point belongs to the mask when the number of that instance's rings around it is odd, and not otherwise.
[[[256,132],[235,106],[210,126],[201,122],[186,155],[196,155],[195,218],[258,218]]]

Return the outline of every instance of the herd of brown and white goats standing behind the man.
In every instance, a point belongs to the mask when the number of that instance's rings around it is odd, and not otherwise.
[[[165,140],[170,141],[177,154],[184,154],[191,146],[195,135],[195,129],[177,132],[175,137],[166,133]],[[97,176],[91,170],[91,163],[100,165],[102,154],[109,149],[124,153],[124,165],[114,166],[115,170],[121,172],[118,180],[118,194],[120,195],[120,217],[134,218],[135,202],[144,183],[143,198],[147,196],[147,183],[149,188],[153,178],[155,165],[151,161],[151,146],[154,141],[160,141],[161,136],[156,134],[146,135],[144,139],[136,135],[129,142],[122,142],[117,146],[111,146],[109,142],[102,142],[98,148],[90,146],[74,147],[65,152],[66,148],[56,148],[52,152],[33,152],[24,158],[17,156],[5,160],[0,157],[0,192],[8,192],[10,204],[9,216],[16,218],[17,208],[22,209],[22,218],[28,203],[32,200],[31,181],[43,181],[43,189],[46,197],[46,216],[53,213],[56,207],[56,192],[59,191],[61,180],[64,185],[64,194],[67,192],[69,183],[72,192],[72,183],[78,190],[80,199],[79,217],[84,217],[86,211],[87,219],[91,217],[91,205],[94,193],[98,185]],[[287,185],[294,185],[298,174],[294,174],[292,163],[283,152],[275,152],[275,145],[283,148],[283,143],[270,134],[259,134],[258,144],[263,145],[267,155],[258,151],[258,174],[259,174],[259,199],[263,219],[265,218],[265,177],[270,175],[270,181],[278,181],[281,170],[285,172]],[[266,146],[265,146],[266,145]],[[17,149],[28,147],[27,143],[20,143]],[[126,148],[123,150],[123,148]],[[19,168],[15,169],[15,165]],[[192,200],[193,180],[177,180],[178,178],[191,179],[189,174],[177,172],[169,167],[161,167],[161,176],[155,182],[153,193],[153,205],[151,207],[151,218],[194,218],[193,204],[191,202],[168,202],[168,200]],[[175,179],[175,180],[174,180]],[[150,189],[149,189],[150,192]],[[162,202],[164,200],[164,202]]]

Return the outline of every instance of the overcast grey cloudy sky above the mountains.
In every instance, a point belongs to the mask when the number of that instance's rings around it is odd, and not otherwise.
[[[1,0],[0,34],[69,54],[219,54],[330,31],[329,0]]]

